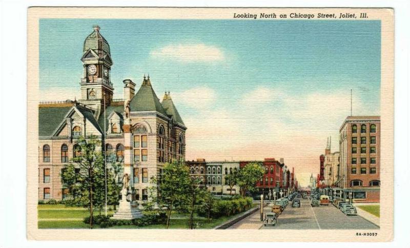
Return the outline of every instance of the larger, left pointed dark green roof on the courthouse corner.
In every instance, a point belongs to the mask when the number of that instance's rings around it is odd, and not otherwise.
[[[163,115],[167,115],[167,112],[163,109],[157,95],[151,86],[150,77],[148,79],[144,77],[142,85],[138,92],[130,101],[131,112],[134,111],[157,111]]]

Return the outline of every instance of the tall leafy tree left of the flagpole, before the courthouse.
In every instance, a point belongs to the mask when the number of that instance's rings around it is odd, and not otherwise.
[[[95,137],[79,137],[75,157],[61,175],[73,201],[90,209],[90,228],[93,228],[93,210],[105,203],[104,157]]]

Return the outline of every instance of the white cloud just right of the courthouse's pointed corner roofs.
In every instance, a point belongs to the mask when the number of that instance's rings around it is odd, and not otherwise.
[[[182,104],[196,109],[208,109],[216,101],[215,90],[205,86],[172,92],[171,96],[176,105]]]

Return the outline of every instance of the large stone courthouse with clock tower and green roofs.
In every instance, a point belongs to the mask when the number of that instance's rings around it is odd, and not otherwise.
[[[135,83],[124,82],[124,99],[113,99],[110,46],[100,28],[83,46],[81,99],[39,104],[39,200],[64,199],[61,170],[76,156],[80,136],[101,140],[107,158],[124,164],[136,200],[148,200],[151,177],[161,174],[167,161],[185,159],[186,127],[170,93],[160,101],[145,77],[135,94]],[[63,46],[64,47],[64,46]]]

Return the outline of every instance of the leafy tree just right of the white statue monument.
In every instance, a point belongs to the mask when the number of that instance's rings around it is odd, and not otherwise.
[[[168,229],[172,211],[187,207],[191,189],[189,169],[182,159],[166,163],[162,169],[160,183],[158,181],[158,178],[151,178],[151,182],[156,185],[150,188],[150,195],[159,208],[166,209]]]

